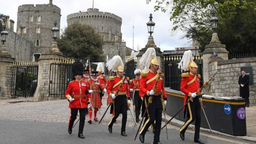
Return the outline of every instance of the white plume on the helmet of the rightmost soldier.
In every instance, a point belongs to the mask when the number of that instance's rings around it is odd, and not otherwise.
[[[188,50],[188,51],[184,52],[182,59],[178,65],[178,68],[180,70],[183,69],[183,70],[187,71],[190,61],[193,61],[193,54],[192,54],[191,50]]]

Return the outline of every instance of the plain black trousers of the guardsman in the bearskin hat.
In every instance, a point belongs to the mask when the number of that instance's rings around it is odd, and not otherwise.
[[[71,109],[71,116],[69,118],[69,124],[68,127],[72,128],[74,125],[74,122],[76,120],[76,116],[79,110],[79,130],[78,130],[78,134],[83,133],[84,131],[84,121],[85,121],[85,112],[87,108],[83,108],[83,109],[77,109],[77,108],[70,108]]]

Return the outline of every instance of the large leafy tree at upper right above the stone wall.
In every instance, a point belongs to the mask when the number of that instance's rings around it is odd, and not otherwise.
[[[186,32],[184,38],[197,40],[204,50],[211,40],[211,11],[219,19],[217,33],[230,53],[256,52],[255,0],[154,0],[155,11],[170,11],[172,30]],[[146,0],[147,3],[151,0]],[[210,35],[210,36],[209,36]]]

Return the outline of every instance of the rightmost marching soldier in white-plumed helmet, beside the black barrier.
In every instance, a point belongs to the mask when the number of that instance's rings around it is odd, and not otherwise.
[[[182,140],[185,139],[185,132],[193,121],[195,122],[195,136],[194,141],[200,144],[204,142],[200,140],[200,125],[201,125],[201,105],[200,101],[201,97],[198,95],[197,90],[200,89],[200,78],[201,76],[197,74],[197,65],[193,61],[193,55],[190,50],[186,51],[182,59],[179,63],[178,68],[181,68],[185,71],[189,70],[189,73],[181,74],[181,83],[180,83],[180,91],[185,94],[184,104],[188,101],[190,97],[193,97],[193,101],[189,101],[188,105],[184,108],[184,118],[187,112],[187,120],[185,124],[180,128],[180,138]]]

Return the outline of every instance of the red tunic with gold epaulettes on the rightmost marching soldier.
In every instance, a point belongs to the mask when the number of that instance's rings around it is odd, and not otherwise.
[[[200,75],[194,75],[191,72],[181,74],[180,91],[185,94],[184,104],[186,104],[188,97],[191,97],[192,93],[200,89],[200,78]]]

